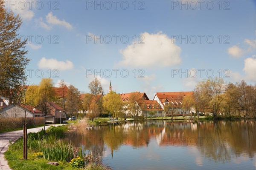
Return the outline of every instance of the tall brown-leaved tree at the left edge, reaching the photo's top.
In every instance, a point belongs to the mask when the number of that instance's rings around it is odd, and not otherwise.
[[[25,84],[25,68],[29,59],[25,57],[26,40],[17,33],[22,21],[19,15],[8,12],[0,0],[0,93],[17,103],[20,90]]]

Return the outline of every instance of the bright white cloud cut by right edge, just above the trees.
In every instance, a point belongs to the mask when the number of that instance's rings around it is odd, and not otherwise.
[[[246,58],[244,60],[245,79],[248,81],[256,81],[256,59]]]

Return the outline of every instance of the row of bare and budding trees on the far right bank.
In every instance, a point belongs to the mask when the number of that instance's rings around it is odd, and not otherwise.
[[[196,112],[212,112],[213,116],[241,115],[256,116],[256,85],[244,80],[236,84],[225,84],[222,78],[199,82],[194,89]]]

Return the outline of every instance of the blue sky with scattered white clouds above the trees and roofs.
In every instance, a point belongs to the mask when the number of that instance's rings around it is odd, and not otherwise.
[[[31,37],[28,84],[50,77],[89,92],[97,76],[105,92],[111,81],[116,92],[153,99],[212,74],[256,82],[255,0],[18,0],[6,8],[23,18],[20,36]]]

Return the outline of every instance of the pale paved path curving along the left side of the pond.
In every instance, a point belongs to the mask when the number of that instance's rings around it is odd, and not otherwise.
[[[55,125],[49,125],[46,126],[45,129],[47,129],[50,126],[59,126],[63,124],[55,124]],[[44,127],[35,127],[28,129],[29,132],[38,132]],[[23,130],[17,130],[12,132],[4,132],[0,133],[0,170],[11,170],[11,168],[8,165],[8,162],[4,159],[4,153],[8,149],[9,141],[16,141],[18,138],[23,136]]]

